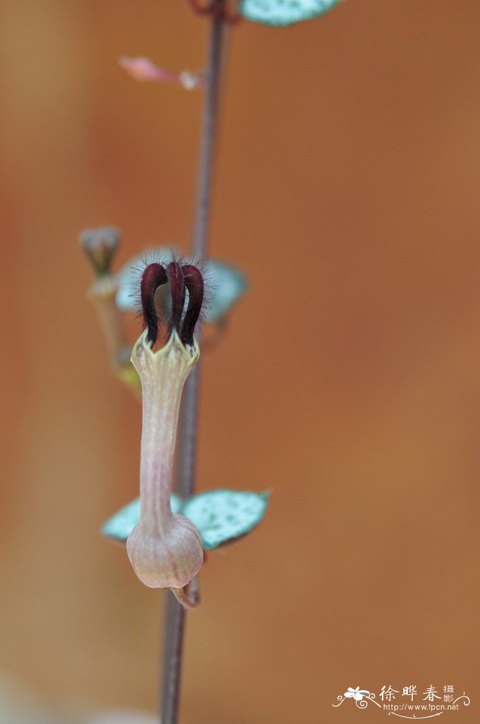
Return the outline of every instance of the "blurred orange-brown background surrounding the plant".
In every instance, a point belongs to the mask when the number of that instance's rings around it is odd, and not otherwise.
[[[201,93],[116,58],[198,69],[207,28],[180,0],[1,17],[3,720],[155,712],[165,594],[98,534],[137,492],[140,408],[76,238],[188,250]],[[480,4],[244,22],[227,71],[210,251],[252,288],[203,357],[199,487],[274,494],[202,572],[181,721],[380,722],[331,704],[432,684],[476,722]]]

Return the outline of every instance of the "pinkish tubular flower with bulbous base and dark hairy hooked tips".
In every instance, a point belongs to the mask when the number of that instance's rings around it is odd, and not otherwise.
[[[168,341],[159,350],[155,292],[171,291]],[[184,312],[186,290],[189,292]],[[150,588],[170,588],[184,606],[192,607],[184,586],[203,562],[202,542],[187,518],[172,513],[170,494],[181,392],[200,350],[193,332],[203,298],[203,279],[194,266],[172,261],[150,264],[140,285],[145,330],[134,345],[132,363],[142,382],[142,443],[140,455],[140,522],[127,540],[134,572]]]

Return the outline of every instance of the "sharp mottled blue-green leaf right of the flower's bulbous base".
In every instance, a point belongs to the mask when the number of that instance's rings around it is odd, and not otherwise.
[[[197,528],[205,550],[213,550],[257,526],[268,497],[268,493],[210,490],[187,500],[181,513]]]

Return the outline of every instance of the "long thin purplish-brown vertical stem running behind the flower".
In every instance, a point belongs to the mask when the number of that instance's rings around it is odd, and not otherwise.
[[[202,119],[200,166],[192,238],[192,256],[195,260],[205,258],[207,254],[213,152],[216,138],[223,39],[226,25],[225,8],[226,0],[214,0],[210,5],[210,39],[207,51],[205,104]],[[197,334],[197,337],[199,334]],[[191,497],[195,489],[199,390],[200,363],[197,363],[197,366],[185,384],[179,424],[176,489],[182,498]],[[197,581],[193,581],[192,587],[196,590]],[[185,610],[173,594],[170,593],[168,595],[166,614],[161,724],[177,724],[178,722],[184,623]]]

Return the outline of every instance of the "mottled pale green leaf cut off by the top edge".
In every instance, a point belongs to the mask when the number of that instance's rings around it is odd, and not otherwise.
[[[247,20],[266,25],[292,25],[331,10],[340,0],[241,0],[240,13]]]

